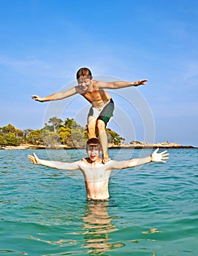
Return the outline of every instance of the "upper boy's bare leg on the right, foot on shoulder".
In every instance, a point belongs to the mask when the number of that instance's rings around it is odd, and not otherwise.
[[[107,151],[107,132],[105,130],[106,124],[101,119],[96,122],[96,127],[99,132],[99,140],[102,146],[102,162],[109,162],[110,158]]]

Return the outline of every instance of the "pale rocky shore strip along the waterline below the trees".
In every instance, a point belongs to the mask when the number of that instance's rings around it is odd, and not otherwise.
[[[20,146],[4,146],[0,147],[0,149],[75,149],[75,147],[68,147],[68,146],[53,146],[53,147],[45,147],[42,145],[34,146],[31,144],[21,144]],[[194,146],[182,146],[179,143],[169,143],[169,142],[163,142],[163,143],[146,143],[146,142],[140,142],[140,141],[132,141],[131,143],[121,143],[119,145],[114,145],[110,143],[108,145],[108,148],[114,149],[114,148],[134,148],[134,149],[142,149],[142,148],[197,148]]]

